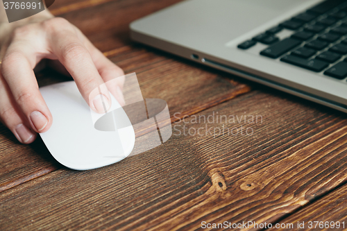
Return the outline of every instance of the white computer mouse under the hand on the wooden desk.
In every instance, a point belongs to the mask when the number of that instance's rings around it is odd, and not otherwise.
[[[89,108],[74,81],[40,87],[40,92],[53,116],[51,128],[40,136],[60,164],[76,170],[96,169],[119,162],[133,151],[133,126],[112,94],[110,110],[98,114]]]

